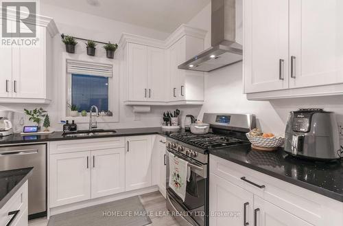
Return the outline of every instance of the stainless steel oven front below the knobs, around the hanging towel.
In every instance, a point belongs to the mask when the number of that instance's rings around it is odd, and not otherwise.
[[[169,187],[169,152],[188,161],[191,167],[191,178],[187,181],[185,201]],[[208,225],[209,181],[207,164],[199,163],[167,147],[167,208],[180,225]]]

